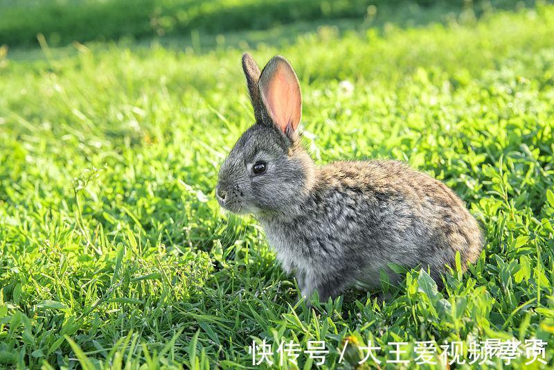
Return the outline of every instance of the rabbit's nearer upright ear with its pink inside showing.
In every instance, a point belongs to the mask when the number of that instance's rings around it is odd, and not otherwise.
[[[262,103],[273,123],[285,134],[296,132],[302,117],[300,83],[289,62],[274,56],[265,66],[258,82]]]

